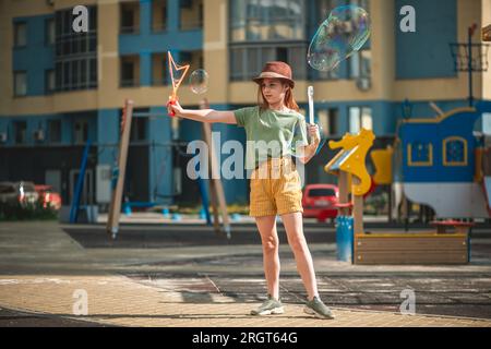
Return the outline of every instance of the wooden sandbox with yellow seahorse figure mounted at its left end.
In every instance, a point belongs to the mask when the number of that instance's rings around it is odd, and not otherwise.
[[[468,263],[471,224],[435,222],[435,231],[418,233],[364,231],[363,195],[370,190],[372,181],[364,163],[374,139],[373,132],[361,130],[358,135],[347,134],[339,142],[330,142],[332,149],[343,148],[324,168],[326,172],[338,177],[338,258],[354,264]],[[458,231],[447,233],[448,226],[457,227]]]

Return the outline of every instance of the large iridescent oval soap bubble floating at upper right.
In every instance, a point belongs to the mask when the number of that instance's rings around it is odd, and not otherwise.
[[[335,69],[367,43],[370,28],[370,16],[362,8],[345,5],[334,9],[310,43],[309,64],[319,71]]]

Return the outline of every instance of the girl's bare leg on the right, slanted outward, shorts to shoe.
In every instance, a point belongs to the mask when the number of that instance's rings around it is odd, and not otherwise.
[[[302,214],[283,215],[282,219],[287,232],[288,243],[294,251],[295,261],[297,262],[297,270],[302,278],[309,300],[312,300],[315,296],[319,296],[319,292],[312,255],[303,236]]]

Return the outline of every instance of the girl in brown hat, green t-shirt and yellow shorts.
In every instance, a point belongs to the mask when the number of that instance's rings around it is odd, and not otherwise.
[[[301,151],[299,160],[307,164],[320,143],[319,127],[309,124],[311,143],[307,140],[304,117],[294,99],[291,68],[284,62],[268,62],[260,76],[259,106],[236,111],[187,110],[179,103],[168,105],[169,113],[201,122],[223,122],[246,129],[248,146],[246,169],[251,177],[250,216],[255,218],[263,245],[266,301],[251,311],[252,315],[284,313],[279,300],[279,255],[276,216],[282,216],[288,243],[294,251],[297,269],[308,293],[304,312],[322,318],[334,318],[318,292],[312,256],[303,236],[302,191],[300,177],[291,160],[292,143]],[[295,136],[292,130],[302,132]]]

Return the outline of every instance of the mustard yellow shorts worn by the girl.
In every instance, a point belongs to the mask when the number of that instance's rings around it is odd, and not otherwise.
[[[291,158],[262,163],[251,176],[251,217],[303,213],[300,176]]]

